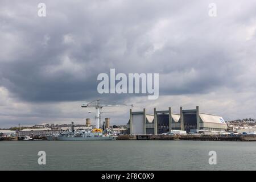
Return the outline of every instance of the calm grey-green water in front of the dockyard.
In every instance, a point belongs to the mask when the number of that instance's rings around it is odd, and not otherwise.
[[[46,151],[39,165],[38,151]],[[209,151],[217,165],[209,165]],[[256,142],[0,142],[0,170],[255,170]]]

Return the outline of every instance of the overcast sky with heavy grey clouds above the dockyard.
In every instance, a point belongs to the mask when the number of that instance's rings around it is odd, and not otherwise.
[[[94,121],[81,104],[97,98],[256,118],[255,30],[254,0],[1,0],[0,128]],[[97,76],[111,68],[159,73],[159,98],[99,94]],[[105,111],[122,111],[102,115],[112,124],[129,120],[129,107]]]

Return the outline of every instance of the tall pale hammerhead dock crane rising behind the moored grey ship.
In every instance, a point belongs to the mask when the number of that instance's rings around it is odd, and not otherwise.
[[[82,107],[85,107],[85,108],[93,108],[94,107],[96,109],[96,114],[95,114],[96,128],[99,129],[101,114],[105,113],[102,111],[103,107],[133,107],[133,105],[117,104],[116,102],[110,102],[110,101],[98,99],[98,100],[89,102],[88,104],[82,104]]]

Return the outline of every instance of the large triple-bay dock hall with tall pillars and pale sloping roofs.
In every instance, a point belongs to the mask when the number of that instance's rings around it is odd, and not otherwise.
[[[196,109],[184,110],[180,107],[180,113],[172,113],[171,107],[168,110],[156,110],[154,114],[147,114],[146,109],[141,112],[133,112],[130,109],[130,119],[127,123],[129,134],[162,134],[171,130],[184,130],[198,133],[200,130],[225,131],[226,122],[218,115],[205,114]]]

